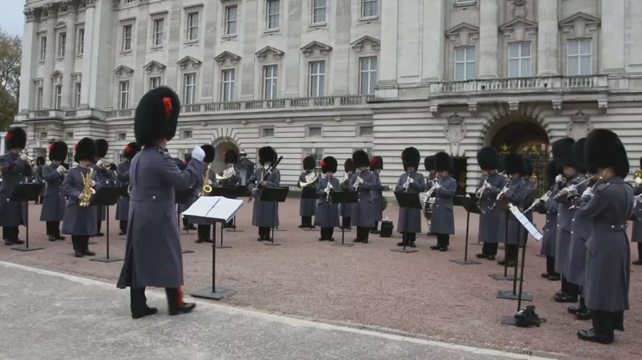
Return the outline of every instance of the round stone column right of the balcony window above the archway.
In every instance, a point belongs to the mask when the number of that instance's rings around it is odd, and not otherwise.
[[[558,0],[539,0],[537,4],[537,76],[559,75],[557,6]]]

